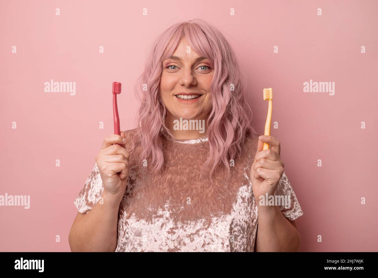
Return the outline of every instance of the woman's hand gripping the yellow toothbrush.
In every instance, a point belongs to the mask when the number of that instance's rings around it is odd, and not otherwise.
[[[268,196],[274,196],[285,166],[280,157],[280,141],[273,136],[262,136],[264,138],[257,143],[257,151],[250,172],[253,195],[256,200],[259,200],[261,195],[265,197],[266,193]],[[264,142],[270,144],[271,149],[263,151]]]

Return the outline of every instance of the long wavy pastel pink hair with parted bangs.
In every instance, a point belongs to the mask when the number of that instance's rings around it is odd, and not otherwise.
[[[141,101],[137,116],[140,128],[132,140],[131,152],[136,144],[141,144],[141,155],[148,160],[148,167],[152,165],[154,173],[163,168],[162,132],[174,137],[165,126],[167,110],[159,93],[162,62],[172,56],[183,36],[197,54],[207,57],[214,65],[212,108],[206,120],[210,150],[201,176],[209,173],[211,179],[218,165],[225,166],[229,175],[230,159],[240,157],[246,138],[256,135],[251,125],[252,111],[243,96],[247,83],[225,37],[200,19],[182,21],[168,28],[157,37],[147,56],[144,72],[134,89]],[[234,90],[231,90],[231,84],[234,84]],[[143,90],[145,87],[148,89]]]

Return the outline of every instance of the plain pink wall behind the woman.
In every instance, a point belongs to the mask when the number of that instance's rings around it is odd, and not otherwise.
[[[262,90],[273,88],[279,129],[272,135],[304,211],[296,220],[300,251],[378,251],[377,2],[138,2],[0,2],[0,195],[31,196],[28,210],[0,207],[0,250],[70,251],[74,199],[113,133],[112,82],[122,82],[121,130],[132,129],[139,106],[132,88],[153,40],[180,20],[200,18],[241,61],[260,134]],[[50,79],[76,82],[76,95],[45,93]],[[303,92],[310,79],[335,82],[335,95]]]

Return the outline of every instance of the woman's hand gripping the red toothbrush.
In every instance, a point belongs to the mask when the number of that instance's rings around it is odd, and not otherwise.
[[[125,134],[108,135],[102,142],[101,151],[96,155],[104,193],[121,200],[129,177],[129,152],[125,148]],[[117,145],[120,144],[121,146]],[[118,174],[119,173],[119,174]]]

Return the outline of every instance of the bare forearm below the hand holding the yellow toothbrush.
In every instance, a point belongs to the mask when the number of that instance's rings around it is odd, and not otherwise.
[[[258,228],[256,252],[297,252],[300,236],[278,206],[260,206],[258,208]]]

